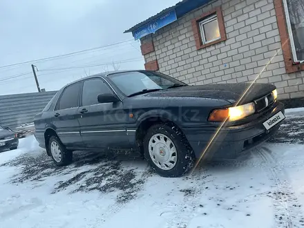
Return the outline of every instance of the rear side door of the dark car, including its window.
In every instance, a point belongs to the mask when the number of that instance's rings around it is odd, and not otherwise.
[[[79,95],[82,82],[64,88],[55,107],[52,124],[61,142],[69,148],[82,148],[84,142],[79,129]]]

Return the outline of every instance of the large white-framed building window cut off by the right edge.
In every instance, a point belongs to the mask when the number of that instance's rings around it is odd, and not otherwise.
[[[283,0],[294,63],[304,63],[304,1]]]

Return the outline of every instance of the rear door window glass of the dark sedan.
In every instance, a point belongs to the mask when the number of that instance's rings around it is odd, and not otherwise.
[[[75,108],[79,106],[79,91],[82,82],[77,82],[64,89],[56,109]]]

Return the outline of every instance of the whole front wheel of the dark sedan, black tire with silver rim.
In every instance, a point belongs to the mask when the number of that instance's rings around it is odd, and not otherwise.
[[[180,129],[171,124],[151,126],[144,137],[144,157],[156,173],[167,178],[184,175],[193,167],[195,160],[187,138]],[[157,162],[158,160],[162,162]]]

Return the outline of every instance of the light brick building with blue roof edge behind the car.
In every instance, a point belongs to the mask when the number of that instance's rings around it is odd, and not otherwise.
[[[145,68],[188,84],[272,83],[304,97],[303,0],[184,0],[126,32]]]

